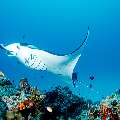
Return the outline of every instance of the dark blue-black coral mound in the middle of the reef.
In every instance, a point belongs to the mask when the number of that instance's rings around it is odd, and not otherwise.
[[[52,113],[44,111],[43,115],[46,120],[76,119],[82,111],[88,108],[87,101],[72,94],[68,87],[61,86],[47,92],[42,105],[50,106],[53,110]]]

